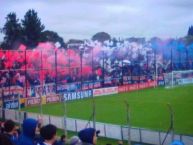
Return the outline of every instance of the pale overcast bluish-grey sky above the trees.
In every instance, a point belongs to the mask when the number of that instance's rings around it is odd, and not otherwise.
[[[23,19],[29,9],[65,41],[90,39],[100,31],[121,38],[177,38],[193,25],[192,0],[0,0],[0,28],[8,13]]]

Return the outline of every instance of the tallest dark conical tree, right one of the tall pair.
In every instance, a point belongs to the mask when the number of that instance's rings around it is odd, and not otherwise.
[[[44,25],[41,23],[40,18],[38,18],[37,12],[33,9],[28,10],[22,20],[22,32],[23,41],[29,47],[35,47],[40,38],[41,33],[44,30]]]

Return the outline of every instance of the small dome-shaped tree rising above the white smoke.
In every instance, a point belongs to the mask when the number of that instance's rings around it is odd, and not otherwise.
[[[111,36],[106,33],[106,32],[98,32],[96,33],[93,37],[92,37],[92,40],[95,41],[99,41],[99,42],[104,42],[106,40],[110,40],[111,39]]]

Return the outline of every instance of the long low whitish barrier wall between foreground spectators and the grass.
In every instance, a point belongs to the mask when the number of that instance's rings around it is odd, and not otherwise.
[[[0,109],[0,118],[4,115],[5,119],[12,119],[18,123],[22,123],[24,118],[34,118],[38,119],[40,114],[38,113],[29,113],[29,112],[22,112],[17,110],[2,110]],[[73,118],[66,118],[59,117],[59,116],[51,116],[51,115],[41,115],[44,124],[54,124],[60,129],[64,129],[64,121],[66,121],[66,128],[68,131],[78,132],[81,129],[87,127],[92,127],[93,123],[88,122],[87,120],[81,119],[73,119]],[[128,139],[128,128],[127,126],[121,125],[113,125],[108,123],[100,123],[96,122],[96,129],[100,130],[100,136],[117,139],[117,140],[127,140]],[[130,128],[130,137],[131,141],[147,143],[147,144],[154,144],[160,145],[166,132],[161,131],[152,131],[143,128]],[[192,145],[193,144],[193,137],[181,134],[175,134],[174,139],[181,140],[184,142],[185,145]],[[166,138],[164,145],[168,145],[171,143],[172,135],[169,134]]]

